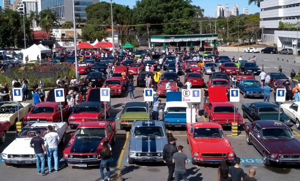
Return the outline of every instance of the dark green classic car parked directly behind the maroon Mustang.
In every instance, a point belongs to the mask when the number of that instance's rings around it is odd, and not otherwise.
[[[254,102],[252,104],[243,104],[243,118],[250,121],[256,120],[277,120],[279,115],[279,106],[271,102]],[[287,126],[292,127],[290,118],[280,111],[280,121]]]

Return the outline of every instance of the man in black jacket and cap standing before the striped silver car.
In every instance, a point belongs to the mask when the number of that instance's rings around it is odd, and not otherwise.
[[[173,174],[175,170],[175,163],[173,163],[173,155],[174,153],[178,152],[178,149],[176,148],[176,138],[170,137],[169,143],[165,144],[164,149],[162,151],[162,159],[168,166],[169,175],[168,175],[168,181],[174,180]]]

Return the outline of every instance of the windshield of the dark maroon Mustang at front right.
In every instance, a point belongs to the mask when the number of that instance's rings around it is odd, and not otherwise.
[[[262,129],[263,139],[294,139],[289,128],[264,128]]]

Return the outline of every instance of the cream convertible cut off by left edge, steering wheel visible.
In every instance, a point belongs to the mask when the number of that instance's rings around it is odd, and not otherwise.
[[[15,125],[18,121],[17,102],[0,102],[0,122],[9,121],[10,126]],[[25,115],[30,111],[31,103],[19,103],[19,118],[23,121]]]

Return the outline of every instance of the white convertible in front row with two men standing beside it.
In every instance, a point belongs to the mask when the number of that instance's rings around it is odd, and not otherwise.
[[[34,123],[31,126],[22,128],[18,137],[10,143],[2,152],[2,161],[6,165],[11,164],[32,164],[36,163],[36,157],[33,148],[29,146],[32,137],[35,137],[37,130],[41,131],[40,137],[44,138],[47,133],[47,126],[51,125],[61,138],[60,144],[65,144],[65,132],[68,128],[66,122],[62,123]],[[47,148],[47,145],[45,145]]]

